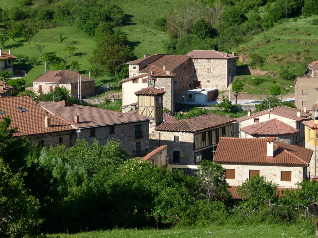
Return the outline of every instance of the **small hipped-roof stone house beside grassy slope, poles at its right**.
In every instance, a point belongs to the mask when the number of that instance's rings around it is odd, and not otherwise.
[[[72,70],[52,70],[33,81],[33,90],[50,93],[55,85],[65,87],[75,99],[87,98],[95,94],[95,81]]]

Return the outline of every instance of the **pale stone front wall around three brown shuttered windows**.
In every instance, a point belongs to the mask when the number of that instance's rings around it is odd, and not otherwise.
[[[230,186],[241,185],[249,178],[249,170],[259,170],[259,176],[265,176],[267,181],[276,183],[281,188],[296,188],[296,183],[302,182],[303,168],[273,165],[222,164],[225,169],[235,169],[235,179],[226,179]],[[292,181],[280,181],[280,171],[291,171]]]

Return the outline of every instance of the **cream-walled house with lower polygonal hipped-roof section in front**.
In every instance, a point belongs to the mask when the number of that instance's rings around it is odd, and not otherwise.
[[[268,135],[277,136],[277,140],[281,142],[301,145],[304,142],[304,125],[301,122],[306,121],[308,116],[310,115],[311,113],[302,111],[300,109],[294,109],[286,106],[278,106],[272,109],[264,110],[253,114],[251,114],[251,110],[247,110],[247,116],[239,117],[236,120],[239,122],[240,137],[248,138],[252,136],[252,127],[254,127],[255,124],[257,124],[256,127],[259,128],[262,125],[266,126],[264,122],[267,122],[271,123],[271,125],[273,125],[276,128],[280,128],[279,131],[274,129],[276,130],[276,132],[274,132],[269,128],[269,126],[264,127],[267,131],[269,131],[267,132]],[[275,122],[270,121],[275,118]],[[277,121],[280,121],[282,123]],[[297,132],[294,129],[291,129],[290,127],[299,130],[299,132]],[[286,133],[288,131],[291,133]],[[283,132],[284,134],[279,134],[279,132]],[[275,133],[278,134],[275,135]],[[267,136],[265,134],[266,131],[262,132],[262,136],[260,137]]]

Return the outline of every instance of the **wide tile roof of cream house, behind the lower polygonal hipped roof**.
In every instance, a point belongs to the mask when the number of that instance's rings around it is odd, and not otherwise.
[[[272,109],[268,109],[268,110],[264,110],[261,112],[257,112],[252,114],[251,116],[242,116],[237,118],[236,120],[238,122],[242,122],[257,116],[262,116],[265,114],[273,114],[273,115],[277,115],[277,116],[282,116],[282,117],[286,117],[295,121],[301,121],[306,119],[308,116],[311,115],[311,113],[307,112],[305,113],[303,110],[301,110],[301,117],[296,116],[297,114],[297,109],[295,108],[290,108],[290,107],[286,107],[286,106],[278,106],[278,107],[274,107]]]

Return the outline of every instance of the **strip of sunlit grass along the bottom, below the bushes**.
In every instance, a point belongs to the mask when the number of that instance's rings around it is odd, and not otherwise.
[[[200,238],[276,238],[276,237],[295,237],[295,238],[314,238],[311,229],[300,228],[296,225],[258,225],[258,226],[211,226],[208,228],[194,228],[182,229],[173,228],[167,230],[124,230],[115,229],[111,231],[93,231],[83,232],[73,235],[47,235],[50,238],[117,238],[117,237],[131,237],[131,238],[174,238],[174,237],[200,237]]]

